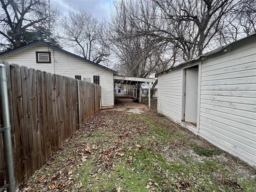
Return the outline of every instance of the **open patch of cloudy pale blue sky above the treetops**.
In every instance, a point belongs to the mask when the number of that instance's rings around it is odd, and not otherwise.
[[[50,0],[50,4],[57,5],[60,12],[65,13],[68,8],[83,8],[88,12],[92,12],[93,16],[102,20],[108,17],[113,8],[112,0]]]

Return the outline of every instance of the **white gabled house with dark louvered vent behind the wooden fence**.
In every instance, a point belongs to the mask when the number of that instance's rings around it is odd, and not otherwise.
[[[0,60],[100,84],[102,108],[114,106],[113,75],[117,72],[56,46],[35,41],[1,53]]]

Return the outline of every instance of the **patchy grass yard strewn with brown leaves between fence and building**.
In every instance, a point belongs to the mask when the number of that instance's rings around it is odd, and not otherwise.
[[[254,192],[255,173],[155,110],[105,110],[86,121],[20,190]]]

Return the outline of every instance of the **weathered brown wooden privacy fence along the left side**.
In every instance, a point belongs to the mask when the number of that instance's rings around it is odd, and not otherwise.
[[[78,128],[77,80],[2,63],[7,69],[14,173],[18,187]],[[80,119],[84,122],[100,110],[101,87],[80,80],[79,84]],[[0,153],[1,187],[6,177],[1,135]]]

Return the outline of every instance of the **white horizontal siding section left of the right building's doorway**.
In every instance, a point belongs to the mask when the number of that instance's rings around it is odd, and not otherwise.
[[[158,77],[158,113],[181,122],[181,70]]]

